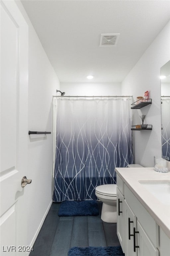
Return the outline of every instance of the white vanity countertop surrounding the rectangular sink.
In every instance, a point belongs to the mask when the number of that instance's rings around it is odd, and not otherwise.
[[[139,181],[169,181],[170,172],[155,172],[153,168],[116,168],[119,177],[170,238],[170,204],[164,204]],[[170,196],[169,196],[170,200]]]

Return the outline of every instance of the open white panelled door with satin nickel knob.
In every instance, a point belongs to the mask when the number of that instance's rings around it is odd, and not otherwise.
[[[14,1],[0,2],[0,255],[26,255],[28,25]],[[27,177],[30,178],[30,177]]]

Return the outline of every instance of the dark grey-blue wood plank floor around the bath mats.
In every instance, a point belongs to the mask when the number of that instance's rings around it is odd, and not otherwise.
[[[30,256],[67,256],[71,247],[117,246],[117,224],[101,220],[100,215],[59,217],[60,203],[53,203],[42,225]]]

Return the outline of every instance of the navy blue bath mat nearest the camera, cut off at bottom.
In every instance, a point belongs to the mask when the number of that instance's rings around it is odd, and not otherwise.
[[[68,256],[125,256],[121,246],[72,247]]]

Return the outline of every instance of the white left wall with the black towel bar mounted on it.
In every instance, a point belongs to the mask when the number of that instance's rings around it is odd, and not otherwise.
[[[20,1],[16,1],[29,26],[28,130],[51,131],[28,136],[26,176],[32,179],[28,192],[28,243],[34,243],[42,220],[52,202],[52,95],[59,80]]]

